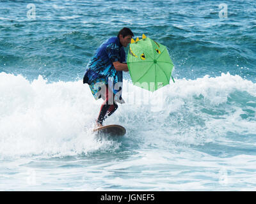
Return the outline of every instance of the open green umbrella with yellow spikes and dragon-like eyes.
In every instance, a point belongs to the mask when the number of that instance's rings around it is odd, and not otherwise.
[[[134,85],[148,91],[169,84],[172,77],[173,62],[167,48],[144,34],[141,40],[131,40],[127,65]]]

